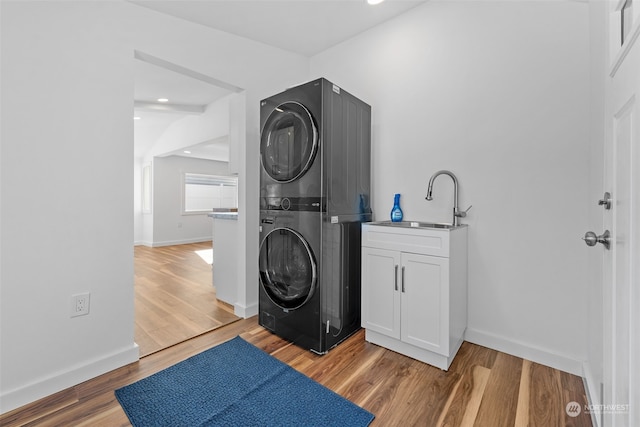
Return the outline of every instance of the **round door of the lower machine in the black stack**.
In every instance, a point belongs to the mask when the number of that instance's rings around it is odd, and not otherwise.
[[[290,228],[275,228],[260,245],[260,284],[277,306],[294,310],[313,295],[315,257],[306,240]]]

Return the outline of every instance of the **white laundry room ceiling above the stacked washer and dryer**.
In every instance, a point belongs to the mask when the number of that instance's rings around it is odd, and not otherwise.
[[[131,0],[140,6],[313,56],[426,0]]]

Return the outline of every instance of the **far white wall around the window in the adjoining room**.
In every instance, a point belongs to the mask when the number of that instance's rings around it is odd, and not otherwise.
[[[182,214],[182,180],[185,173],[228,175],[229,164],[180,156],[154,159],[153,242],[149,246],[211,240],[211,218],[206,214]]]

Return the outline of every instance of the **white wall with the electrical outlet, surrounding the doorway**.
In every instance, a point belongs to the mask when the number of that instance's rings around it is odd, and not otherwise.
[[[134,50],[245,89],[239,294],[257,311],[258,100],[308,59],[122,1],[0,2],[0,411],[137,358]],[[28,174],[24,174],[28,171]],[[91,313],[69,318],[70,296]],[[29,302],[28,310],[23,301]],[[78,346],[78,342],[82,345]]]

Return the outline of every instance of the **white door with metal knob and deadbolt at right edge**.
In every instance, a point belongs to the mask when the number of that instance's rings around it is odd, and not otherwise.
[[[630,1],[611,3],[605,140],[611,208],[604,215],[611,246],[604,251],[602,420],[618,427],[640,426],[640,19],[635,13],[632,25],[631,8],[626,17],[620,12]]]

